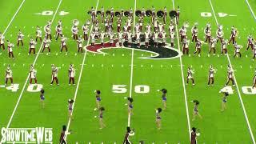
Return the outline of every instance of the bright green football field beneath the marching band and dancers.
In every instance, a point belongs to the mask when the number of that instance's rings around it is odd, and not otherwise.
[[[130,137],[133,143],[169,144],[190,143],[191,128],[196,127],[200,130],[198,143],[255,144],[256,90],[251,86],[256,66],[252,51],[246,51],[248,35],[255,36],[256,32],[255,0],[2,0],[0,6],[0,32],[6,40],[15,44],[14,59],[8,58],[7,50],[0,50],[1,128],[52,128],[52,143],[58,143],[62,126],[66,125],[71,130],[71,134],[66,137],[68,143],[119,144],[123,142],[126,126],[130,126],[135,130],[135,135]],[[185,22],[189,23],[189,39],[190,29],[195,22],[198,22],[198,38],[202,40],[208,22],[214,36],[218,25],[222,25],[226,39],[230,38],[230,29],[235,26],[239,33],[237,42],[243,46],[242,58],[233,58],[232,45],[228,46],[228,55],[221,55],[219,43],[217,54],[210,56],[208,45],[203,44],[201,57],[193,54],[194,43],[190,43],[190,55],[178,58],[149,59],[146,57],[154,56],[155,53],[123,47],[102,50],[104,54],[89,50],[84,54],[78,53],[77,42],[71,37],[72,22],[78,19],[81,28],[90,19],[87,12],[92,6],[96,10],[101,10],[102,6],[105,10],[111,7],[114,10],[132,8],[134,12],[142,10],[142,7],[151,10],[152,6],[156,11],[166,6],[169,12],[177,10],[179,6],[181,14],[176,27],[177,36]],[[62,20],[63,34],[69,38],[69,51],[60,53],[60,40],[53,40],[50,54],[42,53],[42,45],[38,43],[37,53],[28,55],[30,37],[35,38],[36,26],[42,26],[43,29],[49,20],[53,21],[53,32],[57,22]],[[162,22],[162,18],[158,20]],[[138,18],[134,17],[133,23],[137,21]],[[144,19],[145,25],[148,22],[150,17]],[[167,34],[169,22],[168,14],[165,26]],[[114,18],[115,31],[116,27]],[[91,29],[90,25],[90,32]],[[100,29],[103,30],[104,25],[101,24]],[[18,30],[25,35],[23,47],[16,44]],[[82,30],[79,34],[82,34]],[[177,37],[174,42],[174,49],[179,52],[182,50],[180,40]],[[170,38],[167,38],[167,43],[170,43]],[[90,41],[84,42],[84,46],[87,45],[90,45]],[[76,69],[74,86],[68,84],[70,63]],[[60,86],[50,86],[51,64],[59,67]],[[10,88],[10,83],[3,86],[8,65],[13,70],[14,84],[18,88],[16,90]],[[30,65],[34,65],[38,71],[38,84],[46,91],[45,108],[41,106],[40,93],[28,90]],[[217,70],[214,86],[207,86],[210,65]],[[235,87],[224,86],[228,65],[234,70]],[[186,85],[188,66],[194,70],[195,86],[191,83]],[[162,88],[168,90],[167,109],[162,111],[162,129],[158,130],[155,109],[162,107],[162,94],[158,91]],[[36,89],[37,86],[34,86],[33,90]],[[94,90],[102,91],[101,106],[106,109],[106,127],[102,130],[99,129],[98,111],[94,111]],[[220,90],[230,92],[227,109],[223,112],[223,94],[219,93]],[[134,114],[131,116],[127,111],[127,97],[134,98]],[[74,119],[68,117],[69,99],[74,99]],[[195,99],[200,102],[198,109],[202,119],[192,121],[194,103],[191,101]]]

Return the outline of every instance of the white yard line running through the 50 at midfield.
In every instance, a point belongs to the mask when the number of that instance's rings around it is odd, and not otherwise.
[[[137,1],[134,0],[134,27],[135,27],[135,23],[136,23],[136,4]],[[133,27],[133,29],[134,29]],[[135,30],[134,30],[134,34],[135,34]],[[130,91],[129,91],[129,98],[132,97],[132,90],[133,90],[133,78],[134,78],[134,49],[131,50],[131,58],[130,58]],[[127,126],[130,126],[130,114],[128,113],[128,123]]]

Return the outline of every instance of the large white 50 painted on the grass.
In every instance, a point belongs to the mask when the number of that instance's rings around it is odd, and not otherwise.
[[[112,92],[117,94],[124,94],[127,92],[126,85],[113,85]],[[137,85],[134,86],[134,92],[138,94],[146,94],[150,92],[150,86]]]

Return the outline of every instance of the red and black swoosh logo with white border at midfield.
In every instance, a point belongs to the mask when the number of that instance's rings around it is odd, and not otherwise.
[[[105,49],[115,49],[115,48],[124,48],[124,49],[134,49],[140,51],[146,51],[152,53],[151,56],[141,57],[143,59],[172,59],[172,58],[179,58],[182,55],[182,52],[178,49],[172,48],[170,43],[166,43],[166,46],[162,46],[161,44],[158,47],[154,47],[154,42],[150,41],[150,46],[146,47],[145,38],[141,38],[141,46],[137,47],[135,42],[131,43],[130,47],[128,46],[128,42],[122,42],[122,46],[119,46],[118,39],[114,40],[114,43],[110,46],[110,42],[104,43],[102,46],[100,43],[95,44],[94,47],[86,46],[85,49],[90,51],[91,53],[96,54],[106,54],[102,52]]]

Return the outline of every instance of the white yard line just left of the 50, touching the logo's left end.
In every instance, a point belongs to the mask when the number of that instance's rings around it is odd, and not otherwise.
[[[96,5],[96,8],[95,8],[95,11],[98,10],[98,2],[99,2],[99,0],[97,1],[97,5]],[[93,24],[90,27],[90,34],[91,34],[92,30],[93,30]],[[90,37],[88,38],[86,46],[89,45],[89,42],[90,42]],[[82,78],[82,71],[83,71],[83,67],[85,66],[85,62],[86,62],[86,55],[87,55],[87,50],[86,50],[86,52],[85,52],[85,54],[83,56],[83,59],[82,59],[82,66],[81,66],[81,70],[80,70],[79,77],[78,77],[78,84],[77,84],[77,87],[76,87],[75,92],[74,92],[74,98],[73,98],[74,103],[73,103],[73,106],[72,106],[73,110],[71,112],[71,115],[73,115],[73,112],[74,112],[74,105],[75,105],[75,102],[76,102],[76,99],[77,99],[77,96],[78,96],[78,89],[79,89],[79,84],[80,84],[80,81],[81,81],[81,78]],[[71,122],[71,118],[69,118],[69,121],[67,122],[66,131],[69,131],[69,129],[70,129],[70,122]],[[66,135],[66,138],[67,138],[67,136],[68,135]]]

